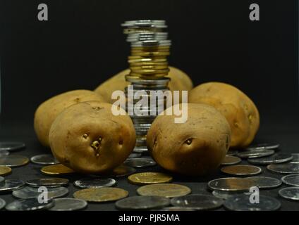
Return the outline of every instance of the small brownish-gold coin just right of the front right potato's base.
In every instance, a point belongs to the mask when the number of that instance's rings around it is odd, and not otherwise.
[[[221,172],[237,176],[252,176],[260,174],[262,169],[260,167],[250,165],[232,165],[221,168]]]

